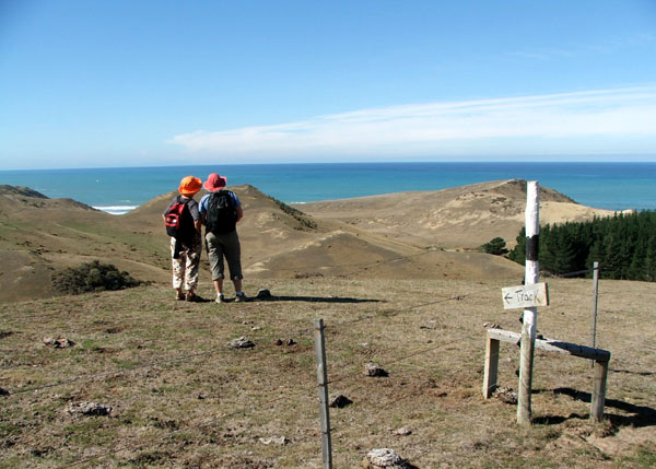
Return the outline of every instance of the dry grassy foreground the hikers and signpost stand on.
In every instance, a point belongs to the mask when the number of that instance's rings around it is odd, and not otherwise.
[[[317,317],[330,396],[353,401],[331,409],[336,468],[379,447],[419,468],[656,465],[654,284],[601,282],[606,421],[588,419],[590,363],[538,352],[535,424],[523,429],[515,406],[481,396],[483,324],[520,328],[520,312],[502,307],[507,283],[257,282],[247,293],[266,288],[274,298],[176,303],[171,289],[145,286],[1,305],[0,467],[321,467]],[[590,281],[549,288],[539,333],[589,343]],[[208,282],[199,293],[212,297]],[[255,347],[229,347],[241,336]],[[370,362],[389,376],[365,376]],[[501,386],[516,389],[517,364],[518,349],[502,344]],[[112,411],[69,412],[85,401]]]

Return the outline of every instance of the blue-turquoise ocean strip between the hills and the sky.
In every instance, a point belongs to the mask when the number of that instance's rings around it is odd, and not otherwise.
[[[578,203],[608,210],[656,210],[656,163],[316,163],[0,171],[0,184],[27,186],[122,214],[194,175],[250,184],[286,203],[412,190],[440,190],[500,179],[537,180]]]

